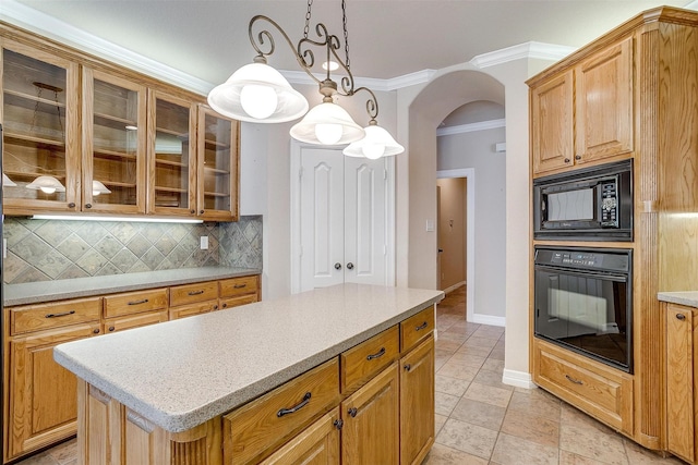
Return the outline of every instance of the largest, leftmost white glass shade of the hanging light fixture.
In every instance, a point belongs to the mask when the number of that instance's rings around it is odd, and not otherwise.
[[[265,63],[245,64],[208,94],[218,113],[252,123],[282,123],[302,117],[308,100]]]

